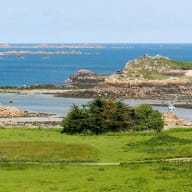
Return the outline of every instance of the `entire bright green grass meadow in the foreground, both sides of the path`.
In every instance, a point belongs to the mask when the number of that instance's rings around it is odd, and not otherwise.
[[[174,157],[192,157],[192,129],[84,136],[56,129],[2,128],[0,192],[191,191],[192,162],[161,161]]]

